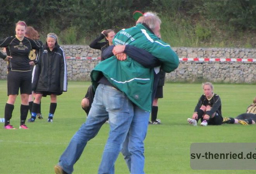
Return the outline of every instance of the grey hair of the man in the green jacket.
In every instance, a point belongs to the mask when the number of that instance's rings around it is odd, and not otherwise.
[[[162,23],[161,19],[157,16],[156,13],[146,12],[145,14],[146,16],[141,17],[140,22],[145,23],[150,29],[154,30],[157,24]]]

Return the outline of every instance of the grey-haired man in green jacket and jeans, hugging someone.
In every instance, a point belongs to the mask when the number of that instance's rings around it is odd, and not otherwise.
[[[178,56],[171,50],[170,45],[156,36],[159,34],[160,24],[161,20],[157,16],[145,18],[143,24],[119,31],[113,43],[114,45],[133,45],[142,48],[161,61],[161,68],[165,72],[171,72],[178,67]],[[125,48],[121,51],[115,48],[113,50],[114,54],[122,51],[125,53]],[[147,69],[129,56],[125,61],[119,61],[116,56],[112,56],[95,67],[91,73],[91,78],[93,85],[97,86],[97,90],[92,108],[85,124],[76,132],[62,154],[59,165],[55,166],[55,172],[63,169],[67,173],[72,173],[73,165],[83,152],[86,143],[96,136],[102,124],[109,119],[109,138],[104,148],[98,173],[114,173],[114,162],[132,121],[143,124],[141,130],[137,129],[140,126],[132,124],[134,127],[129,132],[131,134],[137,133],[136,136],[140,138],[132,146],[142,147],[140,147],[139,152],[134,152],[138,153],[137,159],[133,160],[132,156],[134,155],[131,155],[131,163],[133,164],[130,163],[129,169],[131,173],[143,173],[143,140],[147,132],[152,104],[154,72],[158,73],[159,67]],[[128,139],[129,143],[133,141],[129,137]],[[129,151],[129,153],[133,152]]]

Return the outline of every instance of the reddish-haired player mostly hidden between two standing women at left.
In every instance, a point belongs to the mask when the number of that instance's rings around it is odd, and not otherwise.
[[[38,31],[36,31],[31,26],[28,26],[26,28],[25,37],[27,37],[29,39],[35,40],[36,42],[38,42],[39,45],[43,45],[42,41],[39,40],[40,35],[39,35]],[[39,58],[39,52],[37,50],[31,50],[30,53],[29,53],[29,59],[32,60],[30,62],[31,69],[33,69],[33,67],[35,66],[35,62],[38,60],[38,58]],[[35,69],[33,69],[33,71],[32,71],[32,76],[33,76],[33,74],[35,74],[34,70]],[[32,79],[32,82],[33,82],[33,80],[34,79]],[[30,115],[31,115],[32,105],[33,105],[33,96],[35,97],[34,91],[32,91],[32,94],[30,94],[29,98],[28,98]],[[43,116],[41,114],[41,103],[40,103],[40,107],[39,107],[39,111],[38,111],[37,117],[38,117],[38,119],[43,119]]]

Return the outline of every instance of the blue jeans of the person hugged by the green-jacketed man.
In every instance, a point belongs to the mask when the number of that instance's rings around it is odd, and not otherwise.
[[[144,140],[149,125],[149,114],[134,106],[134,116],[121,152],[131,174],[144,174]]]

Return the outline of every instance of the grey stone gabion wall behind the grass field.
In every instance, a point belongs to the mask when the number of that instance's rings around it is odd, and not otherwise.
[[[66,57],[100,57],[100,50],[85,45],[62,45]],[[256,59],[256,49],[246,48],[173,48],[180,58]],[[67,59],[69,80],[90,80],[98,59]],[[6,62],[0,60],[0,79],[6,79]],[[178,69],[166,74],[166,81],[212,81],[256,83],[256,62],[181,61]]]

